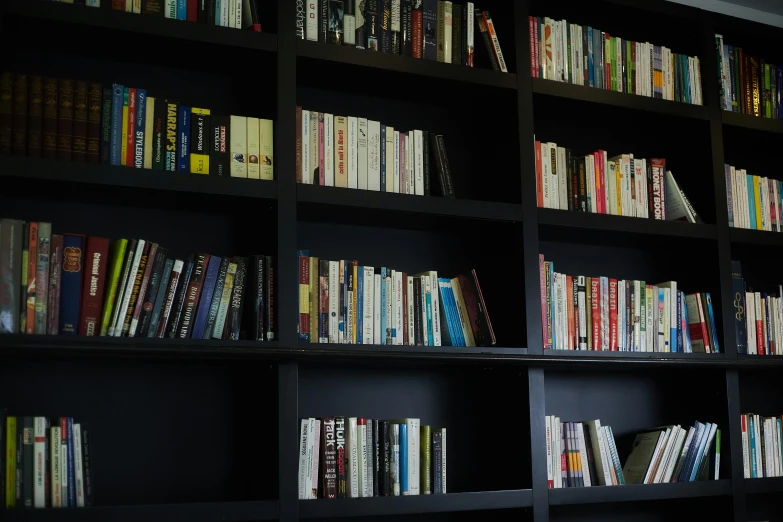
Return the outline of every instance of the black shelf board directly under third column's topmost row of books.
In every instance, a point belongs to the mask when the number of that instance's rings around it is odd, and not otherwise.
[[[543,78],[532,78],[533,93],[568,98],[590,103],[613,105],[627,109],[636,109],[647,112],[657,112],[680,118],[696,120],[709,120],[709,109],[703,105],[673,102],[647,96],[638,96],[624,92],[608,91],[584,85],[572,85],[570,83],[556,82]]]

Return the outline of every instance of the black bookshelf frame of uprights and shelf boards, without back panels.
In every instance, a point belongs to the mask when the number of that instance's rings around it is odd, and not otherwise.
[[[0,36],[5,20],[17,18],[44,19],[69,24],[75,30],[94,29],[122,31],[130,36],[154,35],[184,42],[219,46],[221,49],[263,53],[268,61],[276,60],[275,157],[276,180],[247,182],[231,178],[171,175],[150,171],[130,171],[105,165],[54,163],[14,156],[0,157],[0,185],[17,182],[63,182],[74,186],[99,186],[105,190],[145,190],[187,194],[198,198],[209,194],[231,201],[271,202],[277,213],[277,281],[278,334],[267,343],[250,341],[174,341],[157,339],[58,338],[45,336],[0,337],[0,354],[8,358],[43,358],[49,356],[82,359],[141,358],[180,359],[203,358],[264,360],[277,365],[278,374],[278,448],[277,469],[279,498],[275,501],[228,502],[211,504],[164,504],[153,506],[96,507],[79,511],[0,511],[2,520],[281,520],[296,522],[309,518],[368,517],[449,513],[501,509],[527,510],[529,520],[548,522],[551,506],[567,504],[597,504],[666,500],[700,497],[732,497],[733,519],[748,519],[747,503],[751,494],[780,493],[783,479],[745,480],[742,476],[740,445],[740,372],[780,371],[783,357],[738,355],[732,316],[732,286],[730,260],[732,250],[744,245],[783,248],[783,234],[730,229],[724,188],[723,130],[732,128],[781,134],[783,122],[753,118],[722,111],[715,81],[715,33],[717,15],[662,0],[604,0],[604,4],[648,10],[688,20],[694,31],[703,36],[700,57],[704,106],[686,105],[629,94],[579,87],[531,78],[529,61],[528,14],[530,0],[509,3],[504,13],[513,17],[515,32],[515,74],[500,74],[485,69],[453,67],[451,65],[409,58],[372,54],[327,44],[297,41],[293,31],[295,4],[278,0],[278,34],[253,34],[237,30],[207,27],[171,20],[150,19],[128,15],[110,9],[104,0],[99,9],[54,2],[2,0],[0,5]],[[542,14],[542,13],[534,13]],[[751,22],[737,21],[743,27],[761,27]],[[765,34],[783,36],[783,30],[764,27]],[[500,35],[501,39],[503,35]],[[446,200],[385,193],[360,193],[346,189],[297,185],[294,174],[295,123],[297,105],[297,69],[313,62],[334,63],[353,68],[372,68],[384,78],[422,80],[454,88],[486,89],[486,92],[516,91],[519,164],[522,187],[519,203],[473,200]],[[700,120],[708,123],[712,159],[712,183],[715,187],[715,222],[690,225],[626,217],[577,214],[567,211],[538,209],[535,197],[535,158],[533,135],[535,99],[537,96],[568,99],[584,104],[606,105],[628,111],[662,114],[667,117]],[[164,175],[166,174],[166,175]],[[518,224],[520,237],[514,246],[520,253],[519,264],[524,275],[525,346],[475,349],[421,350],[416,347],[304,345],[297,342],[298,317],[297,281],[297,220],[298,213],[308,205],[344,207],[356,212],[392,212],[417,218],[488,220]],[[581,235],[599,234],[616,237],[651,237],[661,240],[699,240],[713,245],[717,251],[720,273],[722,325],[720,337],[723,352],[704,354],[557,352],[547,353],[542,347],[540,324],[538,252],[541,231],[558,231],[574,240]],[[589,241],[589,239],[588,239]],[[779,250],[776,250],[779,253]],[[508,491],[450,493],[416,498],[374,498],[340,501],[299,501],[297,499],[297,443],[299,423],[300,365],[334,360],[373,367],[388,361],[413,362],[438,367],[445,364],[483,366],[516,365],[527,378],[528,404],[518,404],[517,411],[528,410],[530,488]],[[731,477],[720,481],[662,484],[649,486],[596,487],[583,489],[547,489],[544,416],[551,413],[545,404],[545,372],[591,371],[599,368],[622,367],[630,370],[687,366],[693,372],[717,370],[725,374],[725,404],[729,426],[723,426],[731,441],[730,454],[724,456],[731,467]],[[512,399],[513,400],[513,399]],[[780,405],[783,409],[783,404]],[[527,448],[524,449],[527,451]],[[271,453],[275,453],[272,451]]]

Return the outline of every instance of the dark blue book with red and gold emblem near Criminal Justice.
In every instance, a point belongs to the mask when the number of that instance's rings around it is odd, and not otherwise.
[[[60,276],[60,333],[79,333],[79,311],[84,272],[84,236],[63,237],[62,275]]]

